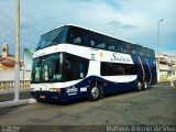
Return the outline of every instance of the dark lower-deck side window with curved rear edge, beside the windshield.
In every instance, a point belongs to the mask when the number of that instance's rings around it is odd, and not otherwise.
[[[89,61],[66,54],[64,63],[65,81],[81,79],[87,76]]]

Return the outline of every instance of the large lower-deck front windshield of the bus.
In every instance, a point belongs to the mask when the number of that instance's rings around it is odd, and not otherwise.
[[[63,79],[63,53],[34,58],[32,82],[59,82]]]

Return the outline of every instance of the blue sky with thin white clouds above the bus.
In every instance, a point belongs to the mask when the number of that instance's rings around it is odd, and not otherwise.
[[[35,48],[41,34],[76,24],[176,55],[176,0],[21,0],[20,52]],[[14,54],[15,0],[0,0],[0,44]]]

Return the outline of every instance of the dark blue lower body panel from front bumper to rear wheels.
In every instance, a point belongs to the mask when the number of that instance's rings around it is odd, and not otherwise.
[[[136,81],[131,82],[113,82],[106,79],[102,79],[97,76],[89,76],[81,80],[80,82],[72,86],[70,88],[77,88],[77,92],[66,92],[66,88],[62,88],[61,92],[56,91],[32,91],[31,95],[36,100],[44,100],[44,101],[70,101],[81,98],[87,98],[88,92],[87,91],[80,91],[80,88],[87,87],[89,88],[90,84],[92,81],[99,81],[103,86],[103,92],[105,94],[112,94],[118,91],[124,91],[130,89],[136,88]],[[73,94],[73,95],[72,95]],[[44,96],[44,99],[41,99],[40,97]]]

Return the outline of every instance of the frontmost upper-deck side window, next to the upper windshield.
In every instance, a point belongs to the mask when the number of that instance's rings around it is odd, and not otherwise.
[[[86,31],[78,28],[70,28],[67,42],[76,45],[87,45]]]

